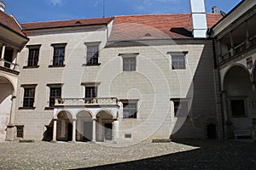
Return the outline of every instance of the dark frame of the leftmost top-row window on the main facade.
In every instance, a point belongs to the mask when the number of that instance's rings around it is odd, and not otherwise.
[[[26,60],[26,66],[24,66],[23,68],[38,68],[39,65],[39,57],[40,57],[40,48],[41,48],[41,44],[37,44],[37,45],[27,45],[26,48],[28,48],[28,54],[27,54],[27,60]],[[38,54],[33,53],[32,57],[31,57],[31,53],[32,50],[38,50]],[[38,55],[38,56],[36,56]],[[30,65],[30,59],[32,59],[32,65]],[[37,60],[37,61],[35,61]],[[36,64],[36,65],[35,65]]]

